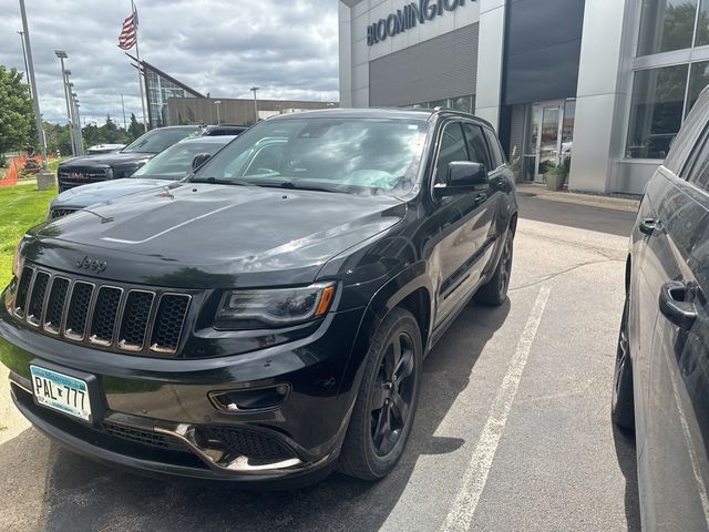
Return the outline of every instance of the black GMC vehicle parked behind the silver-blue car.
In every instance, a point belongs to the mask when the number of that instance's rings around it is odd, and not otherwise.
[[[138,136],[120,152],[84,155],[64,161],[56,168],[59,192],[100,181],[122,180],[157,153],[201,132],[196,125],[158,127]]]

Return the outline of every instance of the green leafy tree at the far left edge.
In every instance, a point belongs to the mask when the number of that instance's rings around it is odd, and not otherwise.
[[[33,143],[34,109],[17,69],[0,64],[0,154]]]

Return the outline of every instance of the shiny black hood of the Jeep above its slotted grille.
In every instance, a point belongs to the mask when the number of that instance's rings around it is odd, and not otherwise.
[[[401,221],[388,196],[187,183],[39,226],[27,256],[103,279],[184,288],[312,283],[322,265]]]

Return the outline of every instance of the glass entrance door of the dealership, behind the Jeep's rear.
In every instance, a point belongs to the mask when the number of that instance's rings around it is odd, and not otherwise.
[[[574,100],[555,100],[527,105],[523,176],[544,182],[544,173],[571,154],[574,131]]]

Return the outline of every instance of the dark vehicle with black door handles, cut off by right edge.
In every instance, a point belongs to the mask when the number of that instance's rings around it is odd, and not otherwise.
[[[643,530],[707,530],[709,92],[648,184],[630,237],[613,419],[635,428]]]

